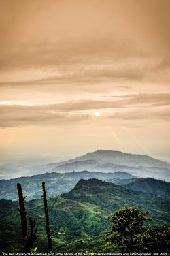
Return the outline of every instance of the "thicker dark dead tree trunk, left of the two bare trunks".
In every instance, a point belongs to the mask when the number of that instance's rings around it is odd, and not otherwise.
[[[19,197],[19,212],[20,212],[20,223],[22,226],[22,243],[23,246],[25,245],[25,242],[27,241],[27,217],[26,217],[26,212],[24,208],[24,199],[22,194],[22,187],[20,183],[17,183],[17,189],[18,189],[18,197]]]

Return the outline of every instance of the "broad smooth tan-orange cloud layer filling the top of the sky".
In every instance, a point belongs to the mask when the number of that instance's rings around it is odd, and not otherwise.
[[[1,86],[165,80],[168,6],[167,0],[7,1],[0,63],[11,80]]]

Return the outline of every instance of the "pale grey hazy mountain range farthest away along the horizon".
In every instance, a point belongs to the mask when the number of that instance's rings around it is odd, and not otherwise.
[[[154,159],[147,155],[135,155],[112,150],[97,150],[75,159],[58,163],[49,163],[39,159],[8,159],[0,166],[0,180],[31,176],[46,172],[128,172],[133,176],[156,178],[170,182],[170,163]],[[48,164],[42,165],[42,163]]]

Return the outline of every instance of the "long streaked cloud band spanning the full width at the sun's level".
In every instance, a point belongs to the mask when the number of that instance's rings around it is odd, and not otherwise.
[[[82,100],[41,106],[0,106],[1,127],[22,125],[73,125],[88,123],[93,110],[105,110],[102,118],[148,119],[169,121],[170,94],[137,94],[112,97],[112,100]],[[110,115],[114,109],[115,114]],[[124,112],[124,110],[126,110]],[[108,114],[107,114],[108,113]]]

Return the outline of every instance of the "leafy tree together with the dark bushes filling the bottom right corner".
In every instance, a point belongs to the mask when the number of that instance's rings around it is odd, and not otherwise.
[[[118,251],[126,252],[168,252],[170,229],[167,225],[149,227],[148,212],[137,208],[122,208],[109,217],[112,231],[106,234],[106,241],[116,245]]]

